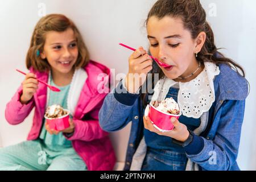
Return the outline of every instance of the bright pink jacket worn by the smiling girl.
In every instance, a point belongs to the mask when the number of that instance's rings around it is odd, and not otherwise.
[[[103,104],[105,93],[97,91],[98,83],[101,80],[97,76],[101,73],[110,75],[107,67],[95,61],[90,61],[84,68],[88,74],[84,87],[80,94],[76,106],[73,121],[75,123],[75,133],[67,138],[72,141],[77,154],[84,160],[88,170],[112,170],[115,164],[115,154],[108,133],[100,128],[98,122],[98,112]],[[48,73],[35,72],[37,78],[48,81]],[[5,117],[11,125],[18,125],[30,114],[35,106],[32,129],[28,134],[28,140],[35,140],[39,137],[43,125],[43,116],[46,108],[47,87],[39,84],[37,92],[27,105],[22,105],[19,101],[22,94],[22,86],[15,93],[14,97],[7,104]]]

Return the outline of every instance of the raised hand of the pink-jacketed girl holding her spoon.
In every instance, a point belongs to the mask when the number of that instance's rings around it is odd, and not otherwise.
[[[25,80],[22,82],[22,86],[23,92],[20,97],[20,102],[22,104],[27,104],[38,89],[38,80],[36,80],[36,76],[33,73],[27,73]]]

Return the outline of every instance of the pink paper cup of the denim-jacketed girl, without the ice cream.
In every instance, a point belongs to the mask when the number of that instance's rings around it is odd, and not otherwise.
[[[171,118],[175,117],[179,119],[180,114],[168,114],[160,111],[154,107],[150,102],[150,109],[148,112],[148,117],[151,119],[156,128],[160,129],[160,131],[171,131],[174,129],[174,124],[171,122]]]

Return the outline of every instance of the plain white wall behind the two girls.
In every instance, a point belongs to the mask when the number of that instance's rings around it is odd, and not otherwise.
[[[0,1],[0,146],[9,146],[26,139],[32,115],[18,126],[5,120],[5,106],[16,92],[23,76],[15,68],[26,70],[24,60],[33,28],[40,19],[42,6],[46,13],[61,13],[71,18],[84,36],[91,58],[115,68],[115,73],[126,73],[130,51],[119,42],[132,47],[147,47],[143,22],[156,0],[9,0]],[[251,93],[247,98],[242,127],[238,164],[242,170],[256,169],[256,11],[254,0],[204,0],[208,20],[216,36],[217,47],[226,56],[245,68]],[[125,160],[130,126],[111,135],[119,162]]]

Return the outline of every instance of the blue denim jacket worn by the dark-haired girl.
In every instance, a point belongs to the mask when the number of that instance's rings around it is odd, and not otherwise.
[[[218,66],[220,75],[214,79],[216,100],[209,110],[207,129],[200,136],[195,136],[188,145],[188,148],[195,148],[200,146],[198,142],[201,141],[203,147],[197,154],[187,152],[187,156],[201,170],[240,170],[236,160],[248,84],[245,78],[228,65]],[[139,96],[109,93],[99,113],[100,126],[108,132],[121,130],[132,122],[124,170],[130,169],[133,155],[143,137],[143,104]]]

